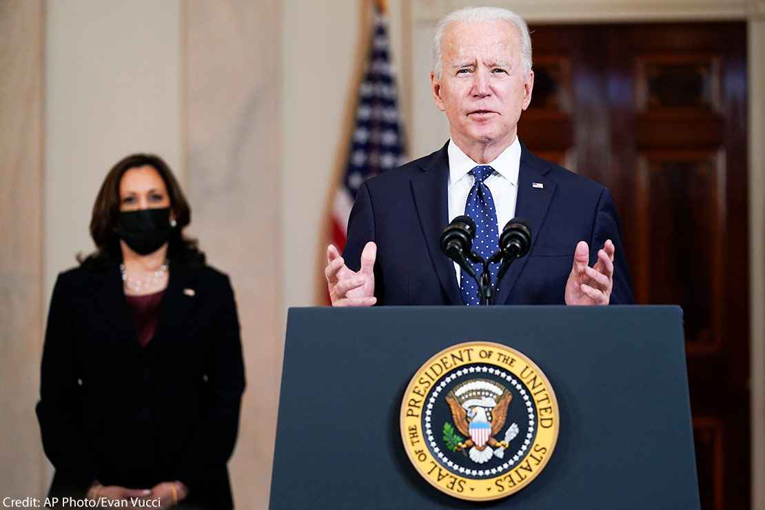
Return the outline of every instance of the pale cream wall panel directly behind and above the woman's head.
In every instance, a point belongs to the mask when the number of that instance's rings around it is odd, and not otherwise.
[[[181,0],[45,2],[45,298],[90,252],[106,172],[160,154],[183,184]]]

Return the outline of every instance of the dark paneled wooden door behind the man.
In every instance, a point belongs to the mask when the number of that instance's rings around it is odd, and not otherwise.
[[[532,41],[519,136],[610,188],[636,301],[684,310],[702,508],[749,508],[746,25],[537,26]]]

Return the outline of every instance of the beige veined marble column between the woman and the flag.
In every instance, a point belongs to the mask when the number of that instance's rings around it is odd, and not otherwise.
[[[237,508],[268,502],[282,372],[280,5],[190,0],[184,24],[190,233],[230,275],[242,323],[247,390],[229,464]]]

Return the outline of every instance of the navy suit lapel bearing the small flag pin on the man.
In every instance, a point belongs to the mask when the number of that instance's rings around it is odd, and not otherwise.
[[[542,229],[542,223],[545,222],[545,216],[555,193],[555,181],[545,178],[549,171],[550,164],[534,154],[531,154],[526,146],[521,144],[521,161],[518,173],[518,196],[516,197],[515,217],[525,219],[531,227],[531,248],[534,249],[536,239],[539,237],[539,230]],[[539,187],[539,185],[542,187]],[[503,225],[500,225],[500,229]],[[519,275],[526,267],[526,261],[529,255],[519,258],[510,266],[505,278],[500,283],[500,291],[496,296],[496,303],[505,304],[510,291],[516,284]]]

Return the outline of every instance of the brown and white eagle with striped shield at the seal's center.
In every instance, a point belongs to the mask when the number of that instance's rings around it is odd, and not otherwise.
[[[469,438],[459,443],[456,450],[470,448],[470,459],[483,464],[494,454],[492,447],[506,448],[507,441],[498,441],[494,436],[505,426],[512,400],[513,395],[506,388],[487,379],[474,379],[449,391],[446,401],[451,417],[457,430]]]

